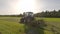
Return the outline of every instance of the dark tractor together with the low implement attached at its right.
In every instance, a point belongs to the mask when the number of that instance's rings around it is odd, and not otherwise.
[[[33,12],[24,12],[23,17],[20,19],[20,23],[30,25],[33,27],[38,27],[44,25],[43,19],[36,20]]]

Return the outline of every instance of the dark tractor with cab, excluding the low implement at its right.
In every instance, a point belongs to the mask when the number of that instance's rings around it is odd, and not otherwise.
[[[33,12],[24,12],[23,17],[21,18],[21,23],[29,23],[34,20]]]

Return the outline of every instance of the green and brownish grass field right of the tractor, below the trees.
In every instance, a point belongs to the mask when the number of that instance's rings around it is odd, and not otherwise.
[[[36,19],[38,20],[41,18],[36,18]],[[60,18],[42,18],[42,19],[47,24],[46,30],[44,30],[45,34],[57,34],[57,33],[60,34]],[[52,29],[57,33],[52,32]]]

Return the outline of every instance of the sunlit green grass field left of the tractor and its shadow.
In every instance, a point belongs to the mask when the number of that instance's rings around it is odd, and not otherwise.
[[[24,25],[18,22],[18,17],[0,17],[0,32],[2,34],[23,34]]]

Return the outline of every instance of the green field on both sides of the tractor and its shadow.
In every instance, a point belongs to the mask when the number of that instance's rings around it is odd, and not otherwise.
[[[43,19],[47,24],[44,34],[60,34],[60,18]],[[25,34],[24,24],[19,21],[20,17],[0,17],[0,34]]]

